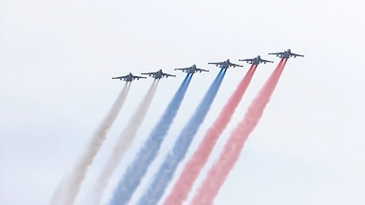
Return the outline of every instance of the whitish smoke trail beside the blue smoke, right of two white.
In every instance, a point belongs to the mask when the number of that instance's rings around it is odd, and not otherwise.
[[[100,200],[103,191],[109,182],[114,170],[118,167],[120,160],[122,160],[125,152],[128,150],[129,146],[132,144],[142,121],[150,108],[152,99],[156,93],[159,81],[154,80],[150,89],[147,91],[146,95],[142,99],[141,103],[133,113],[131,119],[129,120],[126,128],[123,130],[119,136],[119,141],[115,145],[112,156],[106,161],[105,166],[101,170],[101,173],[95,184],[95,188],[92,194],[90,194],[91,201],[89,204],[100,204]]]

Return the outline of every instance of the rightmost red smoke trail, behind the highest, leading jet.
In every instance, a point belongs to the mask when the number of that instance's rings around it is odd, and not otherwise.
[[[243,117],[243,120],[232,132],[223,152],[220,155],[220,158],[218,158],[213,167],[209,170],[191,204],[213,204],[214,197],[217,195],[238,160],[245,141],[254,128],[259,124],[264,109],[279,81],[285,63],[286,59],[281,59],[274,72],[266,81],[266,84],[260,90],[259,94],[253,99]]]

